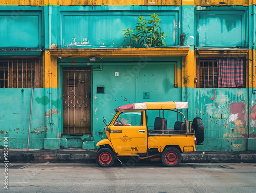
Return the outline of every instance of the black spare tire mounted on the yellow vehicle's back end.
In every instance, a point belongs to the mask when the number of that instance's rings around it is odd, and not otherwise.
[[[195,131],[197,144],[204,142],[204,124],[200,117],[193,119],[192,128]]]

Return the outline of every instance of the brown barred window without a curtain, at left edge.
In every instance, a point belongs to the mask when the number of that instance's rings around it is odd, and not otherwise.
[[[41,59],[0,60],[0,88],[42,88]]]

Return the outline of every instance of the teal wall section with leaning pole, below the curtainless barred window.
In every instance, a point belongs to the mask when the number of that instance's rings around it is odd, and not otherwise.
[[[8,137],[10,148],[27,148],[29,116],[32,89],[1,89],[0,95],[0,145],[4,146],[4,137]],[[34,89],[30,144],[31,149],[44,148],[45,105],[41,98],[45,89]]]

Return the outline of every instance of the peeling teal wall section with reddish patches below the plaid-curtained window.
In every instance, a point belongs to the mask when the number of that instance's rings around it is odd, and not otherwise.
[[[205,141],[198,150],[247,149],[248,89],[195,89],[195,116],[201,117]]]

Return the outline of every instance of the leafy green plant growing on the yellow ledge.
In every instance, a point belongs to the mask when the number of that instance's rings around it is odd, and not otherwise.
[[[139,22],[136,23],[136,28],[134,29],[137,31],[136,34],[129,28],[123,30],[126,31],[126,33],[123,34],[125,35],[124,39],[129,38],[130,40],[130,45],[127,46],[128,48],[131,48],[132,41],[135,41],[135,46],[138,43],[140,47],[144,45],[146,48],[166,46],[164,40],[168,34],[161,31],[159,26],[161,19],[158,18],[158,14],[150,15],[148,19],[143,19],[143,16],[137,18]]]

